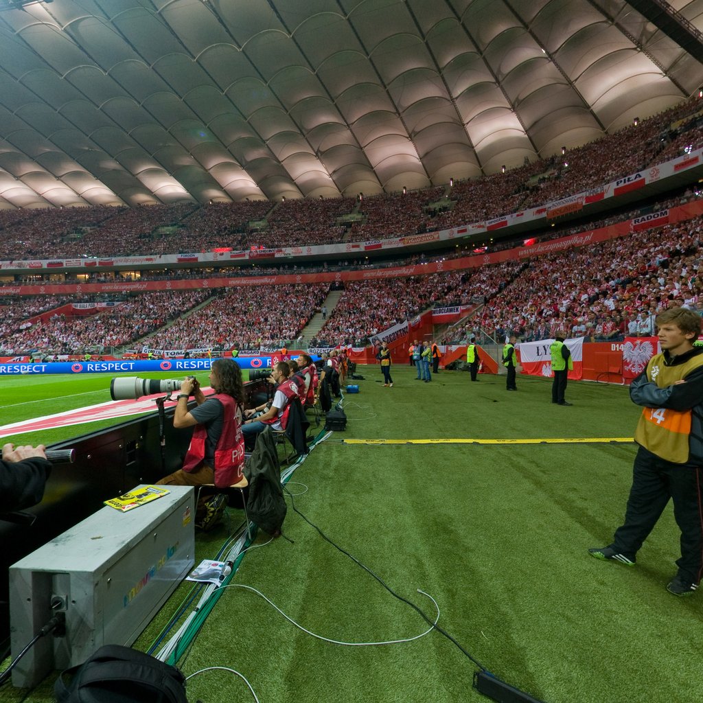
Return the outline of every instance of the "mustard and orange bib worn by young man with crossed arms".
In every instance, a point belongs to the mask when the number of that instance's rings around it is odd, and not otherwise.
[[[699,366],[703,366],[703,354],[676,366],[664,366],[664,354],[657,354],[647,363],[647,380],[656,383],[659,388],[666,388]],[[688,461],[690,431],[690,410],[642,408],[635,441],[666,461],[684,464]]]

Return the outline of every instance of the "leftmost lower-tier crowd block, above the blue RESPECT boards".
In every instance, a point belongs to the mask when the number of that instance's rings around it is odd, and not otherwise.
[[[48,321],[0,335],[0,354],[38,351],[79,354],[89,349],[119,347],[165,325],[183,311],[204,302],[207,290],[138,295],[109,311],[89,316],[56,314]]]

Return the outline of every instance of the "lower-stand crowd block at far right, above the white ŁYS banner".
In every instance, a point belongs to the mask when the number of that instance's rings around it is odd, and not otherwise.
[[[486,304],[481,326],[496,340],[649,335],[667,307],[703,309],[702,232],[697,218],[531,259]]]

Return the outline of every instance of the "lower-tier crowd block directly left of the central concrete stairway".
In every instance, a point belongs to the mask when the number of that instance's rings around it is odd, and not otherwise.
[[[269,349],[295,340],[319,311],[329,286],[224,290],[205,307],[150,335],[150,349]]]

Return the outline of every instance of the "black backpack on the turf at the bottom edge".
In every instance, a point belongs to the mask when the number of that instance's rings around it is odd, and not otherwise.
[[[66,669],[53,694],[58,703],[188,703],[186,677],[175,666],[120,645]]]

